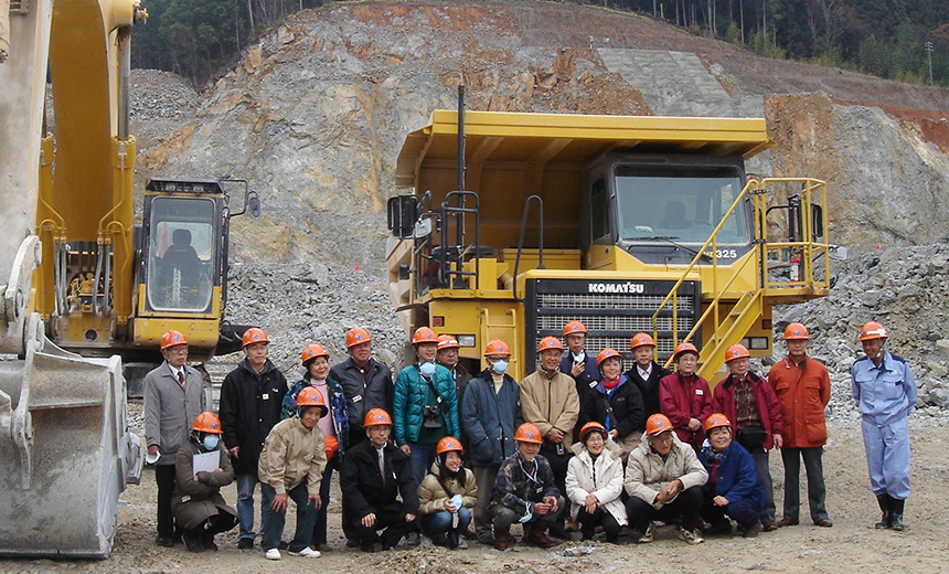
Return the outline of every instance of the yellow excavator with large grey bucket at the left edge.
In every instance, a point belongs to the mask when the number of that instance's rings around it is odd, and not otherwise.
[[[0,556],[107,556],[142,467],[126,395],[161,333],[185,332],[192,361],[239,349],[223,309],[231,217],[259,214],[246,182],[154,179],[135,221],[146,18],[138,0],[0,0]]]

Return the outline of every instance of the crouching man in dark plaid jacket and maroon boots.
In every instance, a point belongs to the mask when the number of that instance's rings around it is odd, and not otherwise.
[[[547,529],[564,510],[564,498],[554,481],[554,471],[546,458],[540,456],[541,429],[524,423],[514,433],[518,451],[504,459],[498,470],[494,492],[488,512],[494,517],[494,548],[507,550],[511,524],[524,524],[526,542],[534,546],[558,544],[547,538]]]

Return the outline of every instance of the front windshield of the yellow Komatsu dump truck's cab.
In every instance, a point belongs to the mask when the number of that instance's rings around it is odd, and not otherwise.
[[[619,238],[703,244],[742,192],[735,168],[618,166]],[[718,244],[750,242],[747,206],[739,205],[718,232]]]

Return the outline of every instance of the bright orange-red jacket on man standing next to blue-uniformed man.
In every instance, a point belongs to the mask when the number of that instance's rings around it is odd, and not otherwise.
[[[781,437],[790,448],[823,446],[828,440],[824,407],[830,402],[830,378],[820,361],[806,358],[801,365],[790,358],[771,366],[768,382],[781,403]]]

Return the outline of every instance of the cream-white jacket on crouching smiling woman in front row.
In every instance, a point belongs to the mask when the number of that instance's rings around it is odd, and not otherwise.
[[[600,507],[616,519],[620,527],[629,523],[626,507],[619,499],[622,495],[622,460],[619,447],[612,440],[594,460],[583,445],[574,445],[575,457],[567,465],[566,490],[571,500],[571,518],[576,520],[587,495],[596,496]],[[596,475],[596,479],[594,479]]]

